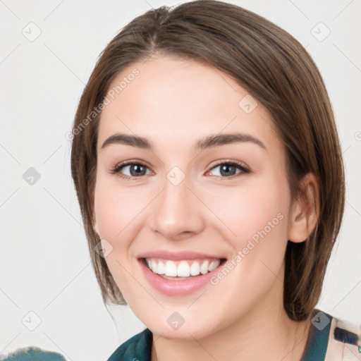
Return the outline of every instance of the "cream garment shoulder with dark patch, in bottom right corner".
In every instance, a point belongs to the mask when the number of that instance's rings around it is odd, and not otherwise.
[[[331,317],[324,361],[361,360],[361,330],[356,323]]]

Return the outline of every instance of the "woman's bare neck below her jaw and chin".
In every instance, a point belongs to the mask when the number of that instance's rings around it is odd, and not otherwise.
[[[282,300],[282,287],[276,288]],[[266,305],[253,307],[233,324],[197,340],[153,335],[152,361],[300,361],[310,332],[310,319],[303,322],[289,319],[282,302]]]

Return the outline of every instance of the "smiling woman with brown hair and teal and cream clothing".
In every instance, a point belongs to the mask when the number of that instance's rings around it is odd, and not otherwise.
[[[73,135],[104,302],[147,326],[109,361],[360,359],[314,309],[343,161],[321,75],[287,32],[219,1],[148,11],[102,52]]]

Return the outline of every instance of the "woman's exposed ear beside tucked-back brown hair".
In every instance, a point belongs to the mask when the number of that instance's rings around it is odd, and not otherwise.
[[[295,243],[310,236],[319,214],[319,185],[314,174],[307,173],[302,179],[302,187],[305,196],[295,200],[290,209],[288,240]]]

